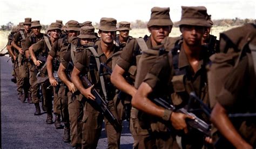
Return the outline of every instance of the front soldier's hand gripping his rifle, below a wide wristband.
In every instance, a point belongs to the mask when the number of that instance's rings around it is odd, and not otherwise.
[[[172,112],[171,115],[171,123],[174,129],[176,130],[184,130],[185,133],[188,132],[186,118],[194,119],[194,117],[185,115],[184,113]]]

